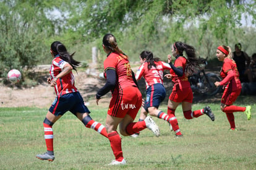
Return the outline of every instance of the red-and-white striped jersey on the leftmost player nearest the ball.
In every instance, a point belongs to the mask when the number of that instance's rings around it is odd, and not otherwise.
[[[53,80],[53,78],[56,77],[63,70],[66,64],[68,64],[68,62],[62,60],[59,56],[53,59],[51,63],[51,69],[49,70],[51,80]],[[64,75],[64,77],[58,79],[56,83],[57,84],[54,86],[54,90],[57,96],[78,91],[75,87],[75,78],[72,74],[72,71],[69,72],[69,74]]]

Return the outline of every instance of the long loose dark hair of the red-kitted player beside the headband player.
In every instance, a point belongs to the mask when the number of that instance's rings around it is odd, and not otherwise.
[[[200,69],[200,64],[202,64],[202,59],[198,59],[195,55],[195,48],[193,46],[182,43],[181,41],[176,41],[173,45],[174,49],[179,51],[179,55],[183,56],[183,51],[187,54],[187,64],[185,67],[185,75],[189,76],[197,72]]]

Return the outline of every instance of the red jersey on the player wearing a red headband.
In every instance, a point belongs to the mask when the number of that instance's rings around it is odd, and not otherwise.
[[[237,70],[236,62],[232,59],[225,58],[220,72],[222,79],[224,79],[228,75],[229,71],[233,72],[234,77],[229,80],[226,87],[231,87],[232,91],[242,88],[241,82],[239,80],[239,72]]]

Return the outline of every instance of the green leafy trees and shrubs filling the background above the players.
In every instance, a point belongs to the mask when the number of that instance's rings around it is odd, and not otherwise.
[[[248,40],[254,37],[255,29],[241,27],[241,22],[242,15],[250,15],[255,27],[255,1],[0,2],[0,77],[6,77],[14,67],[22,71],[36,64],[49,64],[49,45],[56,40],[71,51],[75,49],[80,61],[90,60],[93,46],[105,55],[101,38],[109,32],[117,36],[121,49],[136,61],[144,49],[165,59],[170,45],[177,40],[194,45],[200,56],[214,56],[213,49],[220,43],[233,46],[237,41],[250,51],[249,55],[254,50]]]

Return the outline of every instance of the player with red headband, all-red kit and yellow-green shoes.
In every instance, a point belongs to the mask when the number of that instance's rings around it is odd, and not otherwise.
[[[247,119],[251,118],[251,106],[240,107],[234,106],[233,103],[241,93],[241,82],[236,62],[233,60],[233,53],[229,46],[219,46],[216,49],[216,57],[223,62],[220,75],[221,82],[215,82],[216,87],[223,85],[224,92],[221,98],[221,111],[226,113],[230,124],[230,130],[237,130],[234,122],[234,112],[244,112]]]

